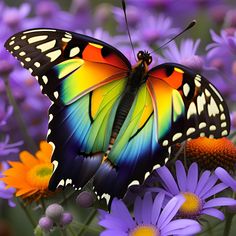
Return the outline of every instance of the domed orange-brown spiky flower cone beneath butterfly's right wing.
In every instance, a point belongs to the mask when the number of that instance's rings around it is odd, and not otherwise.
[[[201,137],[187,142],[186,157],[204,169],[222,166],[230,171],[235,169],[236,147],[228,138]]]

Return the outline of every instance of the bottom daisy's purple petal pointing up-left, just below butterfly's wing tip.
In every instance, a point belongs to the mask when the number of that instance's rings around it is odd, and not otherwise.
[[[126,221],[126,224],[134,227],[134,221],[126,207],[126,205],[121,201],[116,198],[113,199],[112,204],[111,204],[111,213],[118,218]]]

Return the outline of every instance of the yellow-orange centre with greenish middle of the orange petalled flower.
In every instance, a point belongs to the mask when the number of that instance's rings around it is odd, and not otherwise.
[[[47,189],[52,170],[50,163],[36,165],[28,172],[27,180],[34,187]]]

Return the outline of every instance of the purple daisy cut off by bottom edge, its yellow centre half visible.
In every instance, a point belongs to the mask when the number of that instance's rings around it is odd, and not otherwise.
[[[182,196],[172,198],[163,208],[164,193],[159,193],[154,201],[151,193],[144,198],[139,196],[134,203],[134,217],[125,204],[113,199],[110,213],[100,211],[99,224],[106,229],[101,236],[134,236],[134,235],[190,235],[200,232],[197,221],[174,219],[185,199]],[[163,208],[163,209],[162,209]]]

